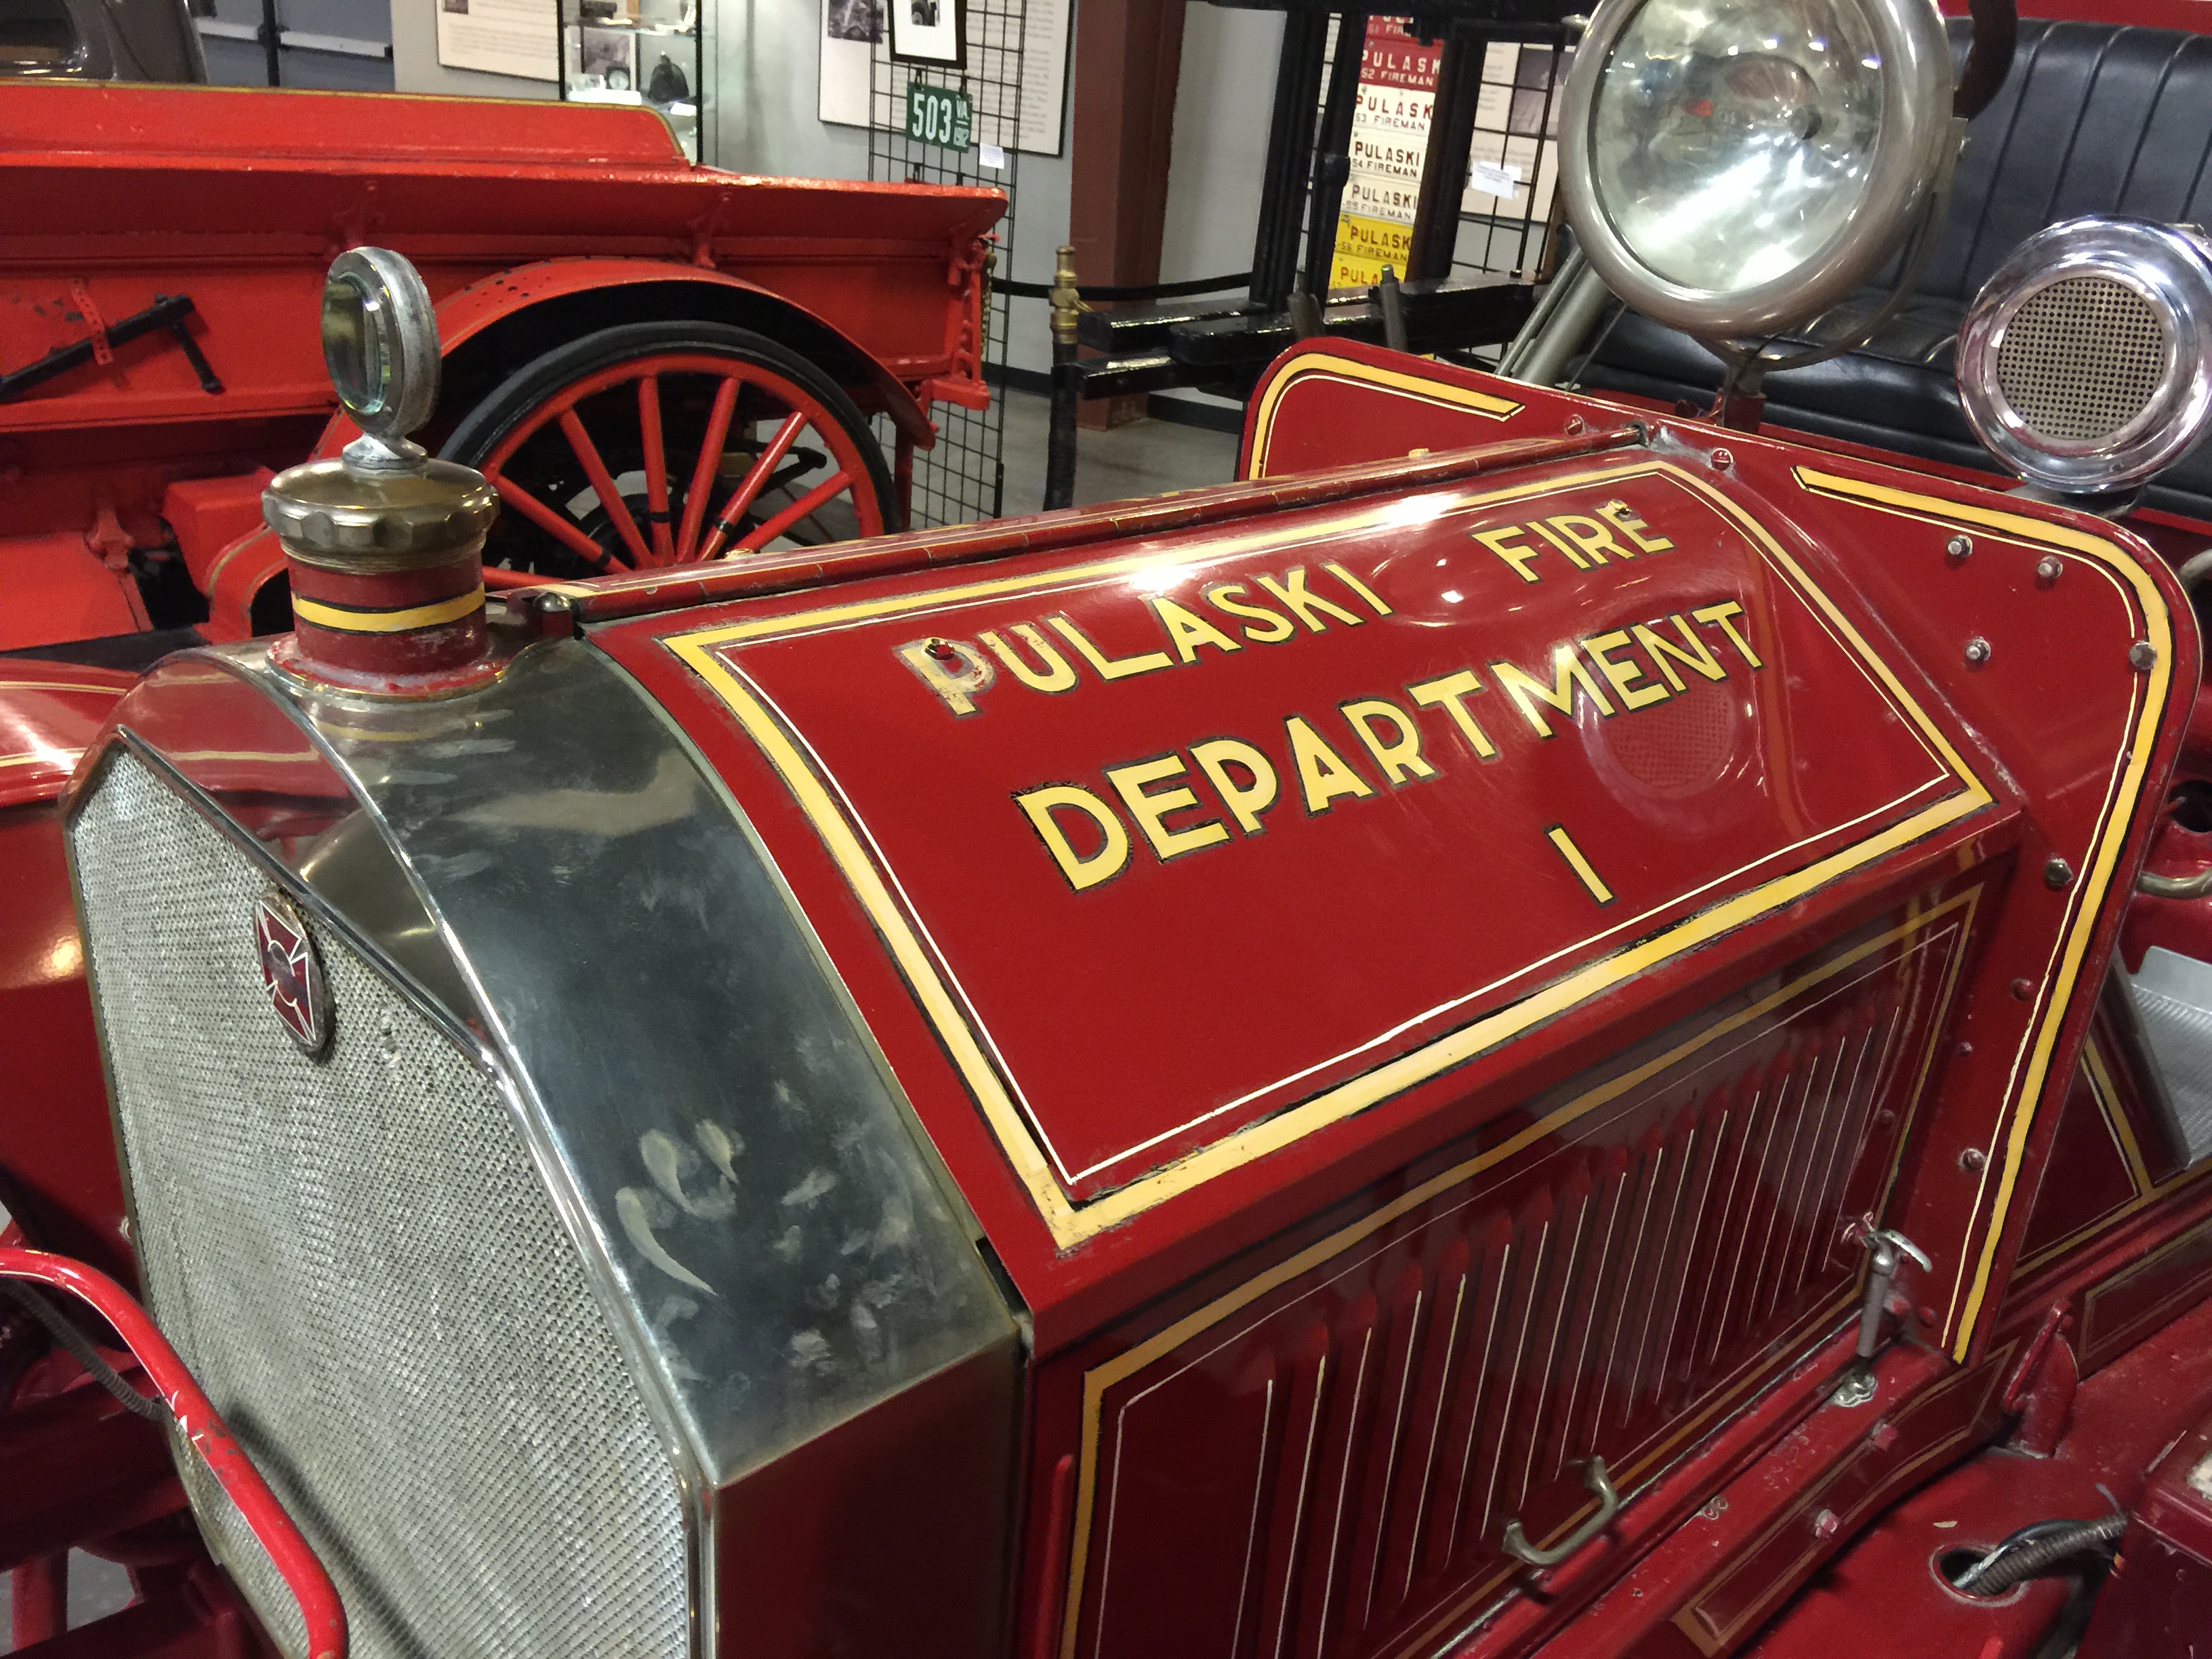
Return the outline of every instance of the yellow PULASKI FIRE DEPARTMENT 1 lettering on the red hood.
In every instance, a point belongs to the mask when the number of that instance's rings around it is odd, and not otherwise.
[[[1595,573],[1674,546],[1624,502],[1471,531],[1471,540],[1522,582]],[[953,717],[971,719],[1006,686],[1024,688],[1013,695],[1066,697],[1254,648],[1294,646],[1334,628],[1402,624],[1374,582],[1338,562],[1214,582],[1194,604],[1155,593],[1137,606],[1144,619],[1133,615],[1113,639],[1055,613],[973,639],[927,637],[896,650]],[[1745,599],[1714,595],[1708,604],[1562,641],[1546,661],[1467,664],[1378,686],[1329,712],[1287,712],[1270,732],[1208,737],[1099,768],[1104,787],[1055,779],[1015,792],[1013,803],[1060,874],[1084,891],[1128,869],[1139,843],[1159,860],[1225,847],[1263,834],[1290,803],[1301,816],[1321,816],[1383,790],[1418,785],[1451,765],[1504,761],[1515,743],[1555,737],[1555,717],[1610,719],[1701,681],[1754,672],[1765,664],[1752,635]],[[1544,834],[1590,896],[1610,902],[1610,889],[1573,838],[1557,825]]]

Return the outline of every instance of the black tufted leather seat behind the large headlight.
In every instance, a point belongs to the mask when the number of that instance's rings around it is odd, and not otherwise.
[[[1951,22],[1964,55],[1966,24]],[[1958,325],[2020,241],[2059,219],[2121,212],[2212,223],[2212,38],[2022,18],[2004,88],[1969,128],[1949,215],[1916,294],[1865,347],[1767,380],[1765,418],[1832,438],[1997,471],[1958,409]],[[1885,272],[1887,276],[1889,272]],[[1803,330],[1836,338],[1889,296],[1867,288]],[[1710,403],[1721,365],[1624,314],[1584,372],[1593,389]],[[2148,507],[2212,518],[2212,445],[2161,473]]]

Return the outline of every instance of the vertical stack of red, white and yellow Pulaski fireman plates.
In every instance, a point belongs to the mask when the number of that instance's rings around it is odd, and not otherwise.
[[[1413,246],[1442,46],[1425,46],[1405,24],[1405,18],[1367,20],[1360,95],[1352,111],[1352,177],[1336,215],[1329,288],[1374,288],[1385,265],[1405,274]]]

